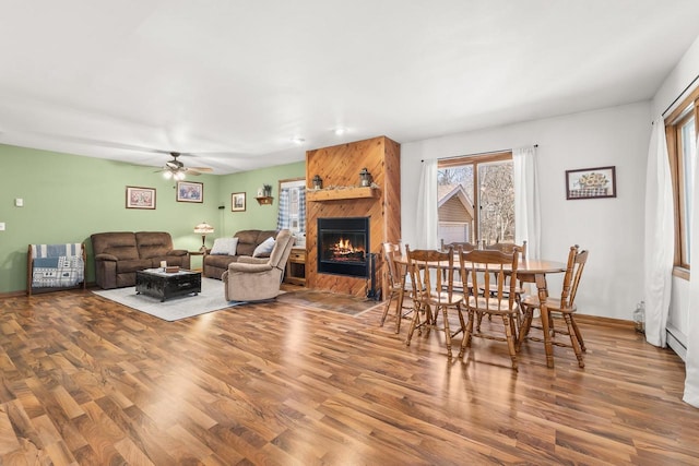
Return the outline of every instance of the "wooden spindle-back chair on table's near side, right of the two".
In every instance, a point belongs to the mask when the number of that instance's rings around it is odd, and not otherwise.
[[[506,342],[512,369],[517,370],[517,315],[519,304],[514,299],[517,287],[517,267],[519,250],[507,253],[497,250],[474,250],[459,253],[461,273],[473,287],[464,297],[464,304],[469,313],[469,322],[461,342],[459,357],[462,358],[466,347],[472,345],[472,338],[481,337]],[[481,292],[479,290],[490,290]],[[505,327],[501,333],[483,332],[479,327],[474,331],[474,322],[482,315],[499,315]]]

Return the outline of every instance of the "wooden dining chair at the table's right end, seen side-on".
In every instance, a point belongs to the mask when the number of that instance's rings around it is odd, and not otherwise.
[[[578,310],[578,307],[576,306],[576,295],[578,294],[578,286],[580,285],[580,278],[582,277],[582,271],[588,262],[588,251],[580,251],[578,244],[570,247],[560,298],[550,298],[548,296],[540,297],[534,295],[524,297],[522,300],[522,312],[524,318],[522,325],[520,326],[518,346],[520,346],[524,339],[544,343],[548,339],[552,345],[572,348],[576,357],[578,358],[578,366],[581,368],[585,367],[582,358],[582,353],[587,351],[585,343],[582,339],[582,333],[576,323],[574,313]],[[545,300],[544,307],[541,304],[541,299]],[[543,330],[543,325],[532,325],[535,309],[540,309],[542,320],[547,320],[549,338],[540,338],[529,335],[532,327]],[[566,322],[566,330],[554,328],[554,321],[552,319],[554,314],[562,316]],[[557,340],[556,333],[568,335],[570,337],[570,343],[568,344]]]

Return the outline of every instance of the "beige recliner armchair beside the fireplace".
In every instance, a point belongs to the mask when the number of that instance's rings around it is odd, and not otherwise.
[[[228,301],[262,301],[276,298],[286,261],[292,253],[294,237],[281,230],[269,258],[240,256],[228,265],[222,279]]]

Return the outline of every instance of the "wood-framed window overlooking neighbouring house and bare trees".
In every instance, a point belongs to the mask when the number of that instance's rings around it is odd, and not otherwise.
[[[511,152],[439,160],[437,184],[445,243],[514,241]]]

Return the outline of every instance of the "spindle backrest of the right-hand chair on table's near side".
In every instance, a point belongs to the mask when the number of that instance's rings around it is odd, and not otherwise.
[[[474,302],[481,301],[485,304],[484,309],[490,310],[511,311],[514,308],[519,256],[519,248],[513,248],[509,253],[495,249],[476,249],[459,253],[461,276],[466,277],[471,295],[476,297],[481,290],[489,290]],[[509,279],[510,277],[512,279]]]

